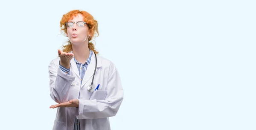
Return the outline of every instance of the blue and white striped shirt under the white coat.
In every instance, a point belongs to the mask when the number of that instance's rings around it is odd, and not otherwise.
[[[81,78],[81,83],[82,83],[82,80],[84,79],[84,73],[86,72],[87,67],[88,67],[88,65],[90,64],[92,55],[93,55],[93,51],[90,50],[90,55],[89,55],[87,61],[85,61],[84,64],[79,63],[79,62],[76,60],[76,58],[74,57],[74,60],[75,60],[75,62],[76,62],[76,67],[77,67],[77,69],[78,69],[78,72],[79,72],[79,75],[80,75],[80,78]],[[61,66],[61,64],[60,64],[60,69],[61,69],[63,72],[65,72],[67,75],[70,75],[70,69],[64,68],[63,66]],[[80,92],[79,92],[79,97],[80,97]],[[79,98],[79,97],[78,97],[78,98]],[[79,119],[76,119],[76,118],[75,118],[75,122],[74,122],[74,123],[75,123],[75,124],[74,124],[74,130],[80,130],[80,122],[79,122]]]

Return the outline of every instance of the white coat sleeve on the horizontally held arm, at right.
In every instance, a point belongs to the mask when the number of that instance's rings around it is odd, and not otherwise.
[[[105,100],[81,100],[76,109],[77,119],[96,119],[115,116],[123,100],[123,89],[117,70],[108,77]]]

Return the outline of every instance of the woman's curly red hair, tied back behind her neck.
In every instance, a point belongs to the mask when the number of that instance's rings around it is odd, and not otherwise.
[[[73,16],[76,16],[77,14],[81,14],[82,16],[84,16],[84,22],[86,22],[86,24],[89,28],[89,31],[92,34],[92,36],[90,36],[88,39],[88,41],[89,41],[88,47],[95,54],[97,54],[98,52],[95,50],[93,43],[90,41],[92,40],[95,33],[97,33],[97,36],[99,36],[98,22],[95,19],[93,19],[93,16],[91,14],[89,14],[88,12],[73,10],[73,11],[68,12],[67,14],[64,14],[61,19],[61,22],[60,22],[61,32],[63,32],[65,35],[67,35],[67,28],[65,26],[65,23],[68,22],[70,20],[70,18],[72,18]],[[94,36],[94,37],[97,37],[97,36]],[[72,50],[71,42],[68,40],[67,43],[68,43],[67,45],[63,46],[63,52],[66,52],[66,53],[68,53]]]

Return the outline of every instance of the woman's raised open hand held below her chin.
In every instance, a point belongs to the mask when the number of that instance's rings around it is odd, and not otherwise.
[[[74,54],[73,53],[65,53],[58,49],[58,55],[61,58],[61,66],[69,69],[70,68],[70,61],[73,58]]]

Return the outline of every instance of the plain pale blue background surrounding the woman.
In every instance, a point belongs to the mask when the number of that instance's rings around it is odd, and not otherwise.
[[[99,22],[119,70],[112,130],[256,130],[255,0],[10,0],[0,3],[1,130],[51,130],[48,65],[73,9]],[[35,128],[36,127],[36,128]]]

